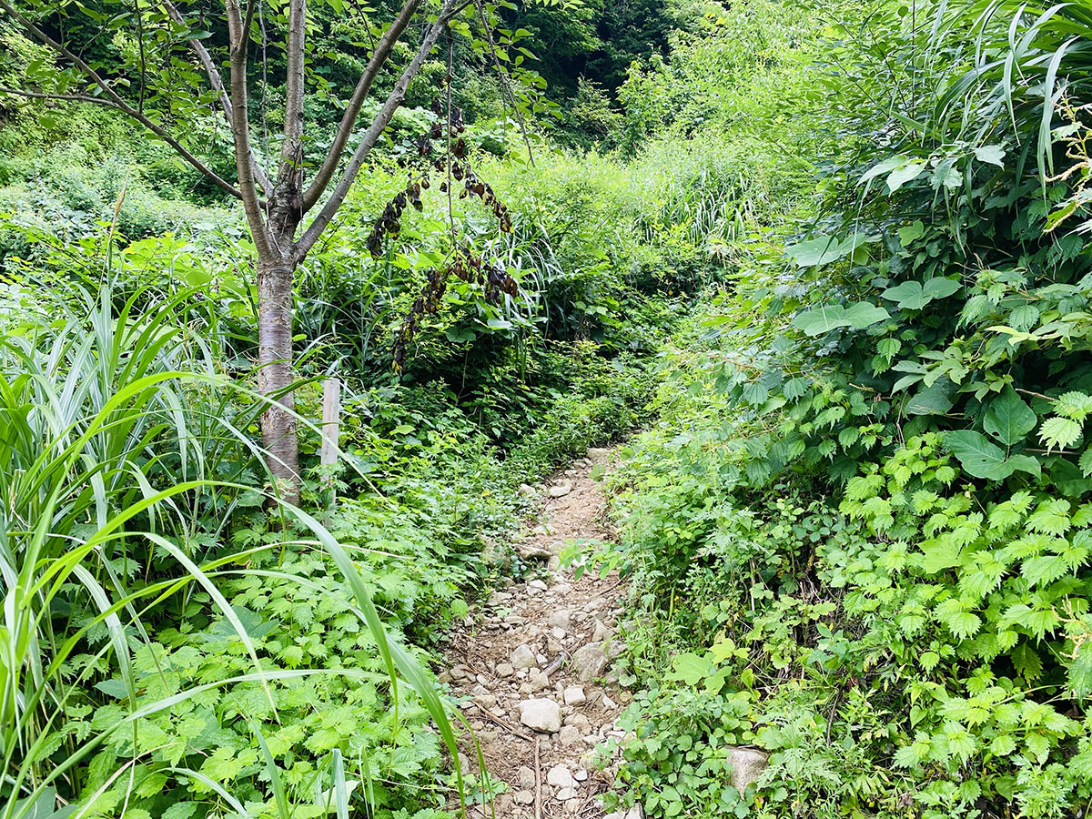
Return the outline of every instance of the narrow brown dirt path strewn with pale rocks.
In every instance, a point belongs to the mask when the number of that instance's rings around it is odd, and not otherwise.
[[[473,625],[451,636],[440,678],[462,698],[490,776],[507,785],[495,800],[497,817],[624,816],[605,815],[597,796],[609,774],[596,770],[592,755],[597,743],[624,736],[615,721],[630,700],[610,668],[622,648],[621,581],[595,572],[575,580],[557,558],[573,541],[612,539],[605,499],[591,477],[597,465],[609,467],[610,456],[591,450],[543,489],[538,525],[514,544],[542,571],[495,592]],[[472,747],[463,760],[467,773],[477,772]],[[488,806],[471,816],[490,816]],[[634,809],[627,819],[638,816]]]

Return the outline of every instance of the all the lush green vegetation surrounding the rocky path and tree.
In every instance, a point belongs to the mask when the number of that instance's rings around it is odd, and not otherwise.
[[[145,66],[170,100],[110,70],[141,57],[140,3],[27,7],[234,174],[193,66]],[[260,9],[250,116],[275,133],[286,17]],[[310,13],[321,149],[393,7]],[[301,509],[269,497],[237,203],[118,111],[34,98],[79,79],[0,13],[0,816],[480,802],[429,663],[534,570],[505,546],[519,486],[618,441],[620,543],[571,549],[630,589],[610,798],[1083,816],[1092,4],[494,13],[505,59],[453,26],[297,271]],[[510,230],[439,177],[380,219],[450,116],[449,60]],[[460,252],[518,286],[415,304]],[[744,792],[740,745],[770,753]]]

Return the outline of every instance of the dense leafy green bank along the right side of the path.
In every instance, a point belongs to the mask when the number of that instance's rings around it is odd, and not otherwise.
[[[1090,21],[869,11],[817,49],[821,195],[676,336],[615,478],[652,816],[1092,798]]]

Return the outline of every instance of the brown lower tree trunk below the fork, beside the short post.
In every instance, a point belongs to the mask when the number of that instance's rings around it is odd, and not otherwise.
[[[276,404],[262,414],[265,463],[281,497],[299,505],[299,453],[296,402],[283,392],[293,382],[292,295],[295,263],[286,259],[258,261],[258,389]]]

